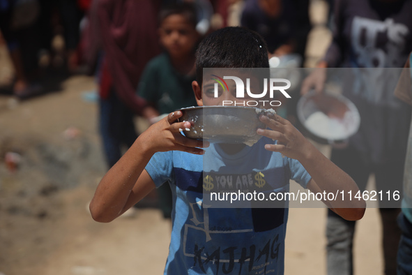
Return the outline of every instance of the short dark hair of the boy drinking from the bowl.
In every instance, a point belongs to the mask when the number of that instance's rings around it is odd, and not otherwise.
[[[244,27],[225,27],[201,40],[196,51],[196,78],[201,86],[203,68],[269,68],[264,39]]]

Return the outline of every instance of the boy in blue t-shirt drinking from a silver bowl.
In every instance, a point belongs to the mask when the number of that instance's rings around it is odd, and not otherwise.
[[[199,45],[196,62],[200,77],[192,87],[199,106],[238,99],[229,87],[218,98],[209,94],[202,82],[203,68],[268,68],[262,38],[240,27],[208,35]],[[289,179],[314,193],[344,191],[344,198],[325,203],[346,219],[362,218],[365,202],[346,196],[358,191],[356,183],[286,119],[261,115],[268,128],[259,128],[257,133],[263,137],[248,147],[189,139],[179,131],[191,126],[188,121],[178,122],[181,116],[181,111],[172,112],[142,133],[102,178],[90,205],[96,221],[113,221],[169,181],[174,209],[165,274],[284,273],[288,209],[204,205],[204,191],[222,186],[223,178],[227,186],[236,186],[229,181],[232,177],[241,179],[238,188],[251,183],[274,193],[289,190]]]

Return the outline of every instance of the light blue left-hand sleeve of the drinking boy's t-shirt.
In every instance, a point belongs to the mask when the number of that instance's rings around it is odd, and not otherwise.
[[[153,179],[156,188],[172,180],[173,151],[155,153],[146,165],[146,171]]]

